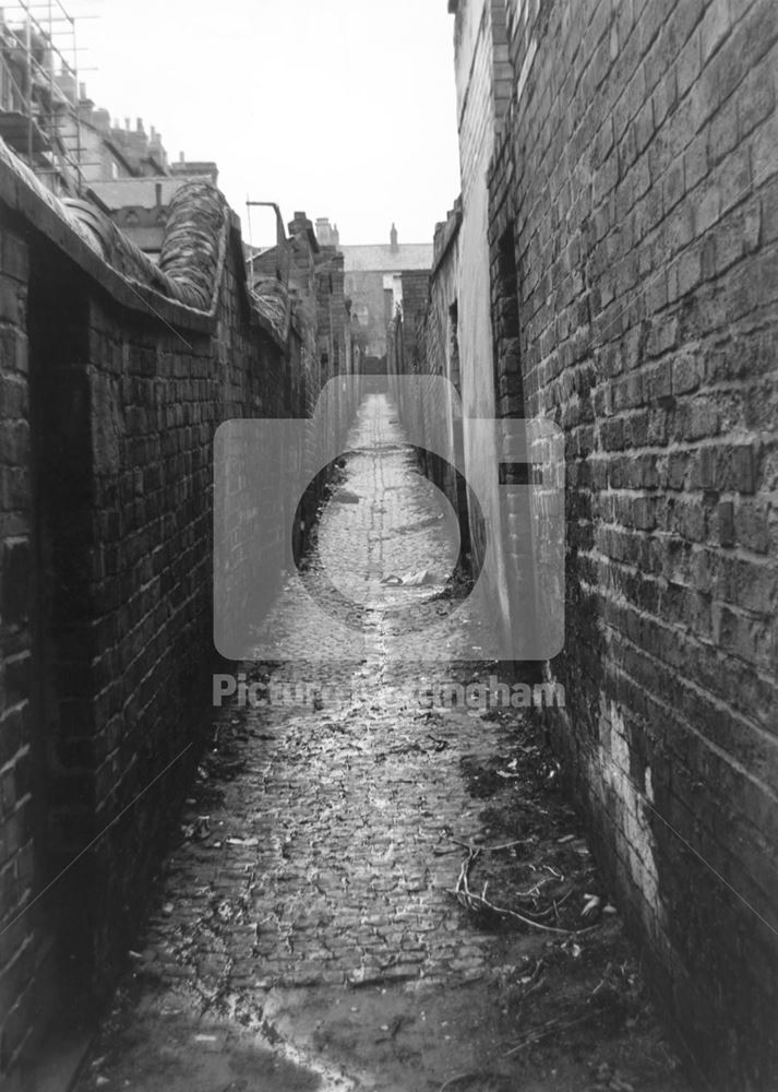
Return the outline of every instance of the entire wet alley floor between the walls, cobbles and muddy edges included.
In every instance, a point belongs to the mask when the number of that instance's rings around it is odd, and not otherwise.
[[[343,648],[290,580],[285,662],[242,667],[265,704],[214,711],[79,1092],[689,1087],[531,716],[419,702],[500,676],[456,637],[424,664],[467,620],[450,515],[368,395],[302,579],[351,658],[292,658]]]

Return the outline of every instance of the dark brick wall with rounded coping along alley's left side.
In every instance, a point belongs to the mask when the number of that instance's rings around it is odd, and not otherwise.
[[[279,344],[256,310],[207,183],[177,195],[156,269],[0,152],[2,1073],[53,982],[69,1013],[110,986],[198,755],[214,432],[303,416],[319,376],[302,328]]]

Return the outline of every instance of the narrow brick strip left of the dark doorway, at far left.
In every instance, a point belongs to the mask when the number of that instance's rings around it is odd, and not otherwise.
[[[27,910],[36,875],[33,482],[29,473],[26,241],[3,223],[0,250],[0,1072],[47,1008],[50,930]],[[21,916],[20,916],[21,915]]]

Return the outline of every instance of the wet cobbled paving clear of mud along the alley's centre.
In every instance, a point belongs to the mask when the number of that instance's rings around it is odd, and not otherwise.
[[[414,703],[404,640],[408,598],[423,615],[439,585],[394,589],[391,573],[452,571],[458,542],[416,471],[411,449],[382,395],[367,400],[349,440],[344,487],[359,503],[330,503],[310,579],[332,583],[363,609],[355,663],[291,662],[267,679],[282,692],[321,695],[308,707],[225,708],[249,739],[240,774],[211,808],[207,835],[168,863],[161,909],[149,925],[146,969],[161,982],[196,983],[204,997],[230,989],[467,980],[483,969],[489,937],[462,928],[451,897],[458,874],[453,838],[478,827],[478,802],[456,773],[459,758],[493,749],[481,717]],[[337,496],[337,495],[336,495]],[[418,615],[417,615],[418,617]],[[316,640],[331,639],[326,617]],[[271,625],[285,648],[307,645],[311,617],[299,587],[285,592]],[[339,651],[339,650],[338,650]],[[404,653],[405,655],[406,653]],[[249,678],[256,678],[247,667]],[[263,678],[265,676],[262,676]],[[436,681],[454,677],[435,669]],[[202,828],[199,804],[184,827]]]

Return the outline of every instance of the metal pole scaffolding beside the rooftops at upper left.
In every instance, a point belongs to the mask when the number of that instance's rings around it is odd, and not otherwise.
[[[0,136],[51,189],[79,197],[81,97],[76,19],[60,0],[0,7]]]

